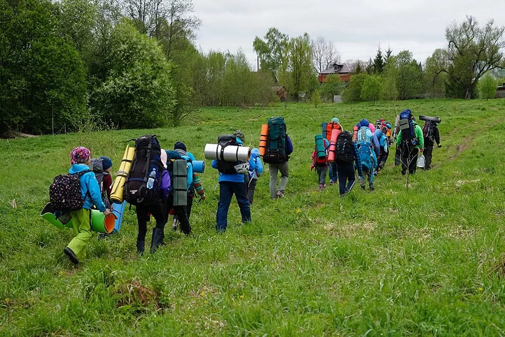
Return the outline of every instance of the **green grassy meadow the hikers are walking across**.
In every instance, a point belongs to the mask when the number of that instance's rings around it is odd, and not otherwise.
[[[442,119],[433,170],[407,190],[390,156],[373,192],[317,190],[309,166],[322,121],[351,129],[404,108]],[[505,335],[503,111],[505,100],[214,108],[178,128],[0,140],[0,335]],[[74,267],[63,255],[72,231],[39,217],[75,146],[110,156],[113,171],[125,141],[144,133],[203,159],[207,142],[236,128],[257,146],[276,115],[295,147],[287,194],[270,201],[261,177],[250,224],[233,202],[228,230],[215,233],[210,162],[194,234],[167,230],[155,255],[137,257],[132,210]]]

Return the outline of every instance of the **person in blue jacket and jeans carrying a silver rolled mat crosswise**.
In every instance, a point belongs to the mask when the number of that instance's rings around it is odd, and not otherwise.
[[[218,138],[222,146],[243,146],[244,134],[237,130],[234,135],[224,135]],[[242,223],[251,221],[250,205],[247,199],[246,177],[250,166],[254,166],[252,158],[249,162],[212,161],[212,167],[219,171],[219,203],[216,212],[216,231],[223,233],[228,226],[228,210],[231,198],[235,195],[242,216]]]

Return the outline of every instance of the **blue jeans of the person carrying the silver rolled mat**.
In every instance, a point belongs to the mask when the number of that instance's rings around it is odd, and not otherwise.
[[[234,194],[240,208],[242,222],[251,221],[249,199],[247,199],[247,185],[245,182],[221,181],[219,183],[219,203],[216,213],[216,230],[218,232],[224,232],[228,226],[228,210]]]

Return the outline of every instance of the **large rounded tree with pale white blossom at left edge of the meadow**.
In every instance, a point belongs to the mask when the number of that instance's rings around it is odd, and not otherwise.
[[[93,112],[119,128],[152,128],[173,121],[171,65],[154,39],[128,20],[116,25],[106,80],[91,94]]]

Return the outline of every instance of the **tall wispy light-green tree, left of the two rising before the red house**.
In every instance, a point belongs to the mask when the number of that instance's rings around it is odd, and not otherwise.
[[[261,69],[270,72],[275,79],[278,79],[279,71],[285,71],[286,68],[289,36],[272,27],[265,34],[264,40],[256,36],[252,47],[260,57]]]

